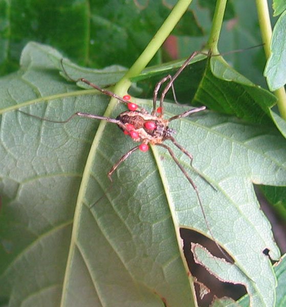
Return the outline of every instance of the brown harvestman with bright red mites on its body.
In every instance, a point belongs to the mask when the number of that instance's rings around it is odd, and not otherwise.
[[[204,216],[206,226],[209,230],[209,233],[210,233],[212,239],[214,240],[218,249],[229,259],[229,256],[226,255],[226,253],[218,245],[218,243],[216,242],[216,240],[215,240],[215,238],[212,234],[212,231],[211,231],[210,226],[208,224],[207,217],[206,217],[206,214],[205,214],[205,211],[204,211],[204,208],[203,208],[203,204],[202,204],[202,201],[201,201],[201,198],[200,198],[200,194],[199,194],[199,191],[197,190],[196,185],[194,184],[194,182],[192,181],[192,179],[190,178],[189,174],[186,172],[186,170],[184,169],[182,164],[175,157],[172,149],[169,146],[163,144],[164,141],[170,140],[183,153],[185,153],[185,155],[190,159],[190,165],[191,165],[192,169],[197,174],[199,174],[199,176],[201,178],[203,178],[216,191],[215,187],[199,171],[197,171],[192,166],[193,156],[184,147],[182,147],[180,144],[177,143],[177,141],[172,136],[175,133],[175,131],[172,128],[168,127],[168,124],[171,121],[173,121],[175,119],[187,117],[187,116],[189,116],[193,113],[203,111],[203,110],[206,109],[206,106],[192,108],[189,111],[186,111],[182,114],[175,115],[175,116],[173,116],[169,119],[164,119],[163,103],[164,103],[164,99],[165,99],[167,92],[170,90],[170,87],[172,87],[173,95],[174,95],[174,89],[173,89],[174,80],[177,79],[177,77],[181,74],[181,72],[187,67],[187,65],[191,61],[191,59],[197,54],[202,54],[202,52],[192,53],[173,76],[167,75],[166,77],[164,77],[162,80],[160,80],[156,84],[155,90],[153,92],[153,109],[152,109],[151,113],[147,112],[143,107],[138,106],[137,104],[128,101],[130,99],[129,95],[125,95],[122,98],[122,97],[119,97],[118,95],[114,94],[113,92],[101,89],[101,87],[99,87],[98,85],[93,84],[93,83],[91,83],[90,81],[88,81],[84,78],[80,78],[78,80],[72,79],[68,75],[68,73],[65,71],[63,64],[62,64],[62,60],[61,60],[63,71],[70,80],[72,80],[74,82],[78,82],[78,81],[84,82],[84,83],[94,87],[94,89],[100,91],[101,93],[108,95],[108,96],[111,96],[111,97],[125,103],[127,105],[128,109],[129,109],[129,111],[125,111],[125,112],[120,113],[117,116],[116,119],[110,118],[110,117],[99,116],[99,115],[93,115],[93,114],[89,114],[89,113],[82,113],[82,112],[77,112],[77,113],[73,114],[70,118],[68,118],[65,121],[54,121],[54,120],[50,120],[50,119],[46,119],[46,118],[41,118],[41,119],[47,120],[47,121],[50,121],[50,122],[54,122],[54,123],[67,123],[76,116],[105,120],[107,122],[117,124],[123,130],[124,134],[129,135],[135,142],[141,142],[140,145],[137,145],[134,148],[127,151],[125,153],[125,155],[123,155],[119,159],[119,161],[111,168],[111,170],[109,170],[108,178],[111,181],[112,181],[113,172],[117,169],[117,167],[121,164],[121,162],[125,161],[131,155],[131,153],[133,153],[137,149],[139,149],[141,151],[147,151],[149,149],[149,146],[148,146],[149,143],[151,145],[158,145],[158,146],[161,146],[161,147],[164,147],[165,149],[167,149],[171,158],[179,166],[179,168],[181,169],[181,171],[183,172],[183,174],[185,175],[185,177],[187,178],[187,180],[189,181],[189,183],[191,184],[191,186],[195,190],[197,199],[199,201],[199,204],[200,204],[203,216]],[[163,89],[161,96],[160,96],[160,107],[156,108],[157,98],[158,98],[158,93],[159,93],[160,87],[166,81],[168,81],[168,83],[165,86],[165,88]],[[175,98],[175,95],[174,95],[174,99],[177,101],[177,99]],[[136,111],[137,109],[139,109],[139,111]],[[31,115],[31,114],[23,112],[23,111],[19,111],[19,112],[33,116],[33,117],[36,117],[36,118],[39,118],[37,116]]]

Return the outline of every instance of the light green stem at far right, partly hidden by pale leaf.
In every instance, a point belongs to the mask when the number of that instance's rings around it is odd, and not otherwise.
[[[268,59],[271,54],[270,44],[271,44],[271,36],[272,36],[272,27],[271,27],[271,21],[269,17],[269,9],[268,9],[267,0],[256,0],[256,7],[257,7],[262,42],[264,43],[263,48],[264,48],[266,58]],[[279,113],[281,117],[286,120],[286,93],[285,93],[284,86],[276,90],[274,92],[274,95],[278,99],[277,106],[278,106]]]

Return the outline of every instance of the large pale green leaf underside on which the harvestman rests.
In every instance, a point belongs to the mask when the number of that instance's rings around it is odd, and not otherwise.
[[[135,146],[116,125],[86,118],[56,124],[17,112],[65,120],[77,111],[116,117],[125,110],[63,79],[61,57],[30,43],[21,70],[1,80],[0,237],[10,249],[2,247],[0,296],[11,306],[60,300],[67,306],[195,305],[179,230],[211,235],[193,188],[168,152],[158,146],[134,152],[109,187],[108,170]],[[167,117],[186,109],[165,108]],[[273,306],[276,280],[262,251],[278,259],[279,250],[253,183],[286,185],[285,140],[271,125],[210,111],[171,126],[217,189],[173,149],[197,185],[215,239],[235,259],[222,278],[247,284],[253,306]]]

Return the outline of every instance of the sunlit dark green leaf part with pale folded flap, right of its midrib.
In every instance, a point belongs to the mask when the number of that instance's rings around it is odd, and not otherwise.
[[[195,101],[247,121],[270,122],[266,115],[276,102],[273,95],[231,69],[221,57],[211,58],[210,70]]]

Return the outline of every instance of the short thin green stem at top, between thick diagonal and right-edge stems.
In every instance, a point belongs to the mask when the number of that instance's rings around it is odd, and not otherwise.
[[[211,32],[207,43],[207,48],[211,50],[212,54],[218,54],[217,44],[219,34],[222,30],[224,14],[226,10],[227,0],[217,0],[215,11],[212,19]]]

